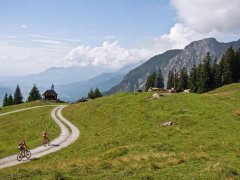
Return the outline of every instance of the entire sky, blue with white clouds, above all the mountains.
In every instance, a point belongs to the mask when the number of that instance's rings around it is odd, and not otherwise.
[[[206,37],[239,39],[239,0],[0,0],[0,75],[118,69]]]

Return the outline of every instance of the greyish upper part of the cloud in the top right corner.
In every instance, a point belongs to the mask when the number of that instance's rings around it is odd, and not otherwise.
[[[171,0],[178,19],[200,32],[240,29],[239,0]]]

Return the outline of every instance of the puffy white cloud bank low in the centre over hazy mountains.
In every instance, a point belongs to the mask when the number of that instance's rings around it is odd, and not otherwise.
[[[148,49],[122,48],[118,41],[113,43],[105,41],[101,46],[90,47],[86,45],[72,49],[65,59],[80,66],[103,65],[119,68],[129,63],[145,60],[152,55]]]

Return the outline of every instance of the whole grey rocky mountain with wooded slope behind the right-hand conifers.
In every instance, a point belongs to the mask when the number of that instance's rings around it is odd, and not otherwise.
[[[229,47],[234,49],[240,48],[240,40],[221,43],[214,38],[207,38],[200,41],[194,41],[186,46],[183,50],[171,50],[158,56],[154,56],[141,66],[129,72],[123,80],[107,94],[115,92],[129,92],[137,89],[144,89],[147,76],[156,71],[160,67],[163,71],[165,83],[167,82],[167,75],[170,70],[179,70],[186,67],[191,70],[193,65],[198,65],[202,62],[206,54],[209,52],[213,59],[218,61]]]

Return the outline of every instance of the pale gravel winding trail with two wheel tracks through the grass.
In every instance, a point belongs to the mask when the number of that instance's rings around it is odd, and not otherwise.
[[[49,106],[49,105],[47,105]],[[52,105],[50,105],[52,106]],[[53,105],[55,106],[55,105]],[[21,111],[26,111],[30,109],[35,109],[35,108],[40,108],[40,107],[46,107],[46,106],[35,106],[31,108],[25,108],[25,109],[20,109],[20,110],[15,110],[7,113],[0,114],[0,116],[4,116],[7,114],[12,114],[16,112],[21,112]],[[17,154],[5,157],[0,159],[0,169],[18,165],[21,163],[29,162],[34,159],[38,159],[42,156],[45,156],[49,153],[58,151],[64,147],[69,146],[72,144],[74,141],[76,141],[80,135],[80,131],[76,126],[74,126],[71,122],[69,122],[67,119],[65,119],[61,113],[62,109],[66,107],[66,105],[60,105],[56,106],[52,111],[51,111],[51,117],[52,119],[56,122],[56,124],[60,127],[61,129],[61,134],[59,137],[51,141],[51,145],[44,147],[44,146],[39,146],[34,149],[30,149],[32,156],[29,160],[24,158],[21,162],[18,162],[16,157]],[[71,132],[69,131],[71,130]]]

